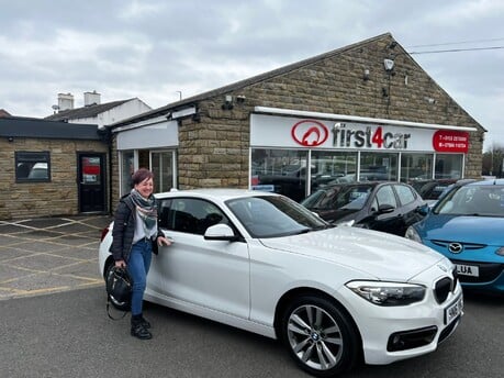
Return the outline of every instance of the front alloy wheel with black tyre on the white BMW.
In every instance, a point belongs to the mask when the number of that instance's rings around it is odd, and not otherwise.
[[[352,323],[324,298],[296,299],[285,310],[281,326],[291,357],[314,376],[333,377],[358,360],[360,343]]]

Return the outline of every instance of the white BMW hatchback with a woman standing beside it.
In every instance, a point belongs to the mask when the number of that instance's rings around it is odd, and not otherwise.
[[[276,193],[156,198],[173,244],[153,256],[145,300],[279,338],[314,376],[433,352],[462,316],[453,265],[418,243],[334,226]],[[111,241],[104,233],[103,276]]]

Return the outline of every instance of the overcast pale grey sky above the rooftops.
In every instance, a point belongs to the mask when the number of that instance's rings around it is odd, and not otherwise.
[[[0,0],[0,109],[152,108],[387,32],[504,146],[502,0]]]

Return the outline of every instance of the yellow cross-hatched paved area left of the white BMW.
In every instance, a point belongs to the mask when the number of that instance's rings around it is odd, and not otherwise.
[[[98,246],[111,216],[0,221],[0,300],[102,286]]]

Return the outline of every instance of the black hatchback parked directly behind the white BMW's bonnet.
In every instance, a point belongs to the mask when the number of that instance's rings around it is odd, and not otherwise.
[[[406,184],[363,181],[327,185],[301,201],[332,223],[345,223],[404,236],[419,220],[425,205],[422,197]]]

